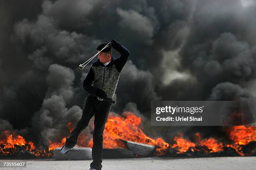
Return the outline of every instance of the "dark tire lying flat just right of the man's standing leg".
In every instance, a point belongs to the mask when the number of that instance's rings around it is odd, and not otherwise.
[[[118,159],[118,158],[135,158],[135,154],[131,150],[123,148],[103,149],[103,159]]]

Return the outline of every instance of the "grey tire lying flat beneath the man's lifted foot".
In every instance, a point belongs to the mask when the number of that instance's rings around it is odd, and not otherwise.
[[[66,155],[59,153],[61,148],[54,150],[55,160],[90,160],[92,159],[92,148],[72,148]]]

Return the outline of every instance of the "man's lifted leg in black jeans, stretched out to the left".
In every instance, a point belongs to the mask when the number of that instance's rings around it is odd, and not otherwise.
[[[66,147],[73,148],[77,144],[79,134],[88,126],[88,123],[94,113],[95,102],[93,100],[86,99],[81,119],[75,125],[73,131],[70,133],[70,136],[66,138]]]

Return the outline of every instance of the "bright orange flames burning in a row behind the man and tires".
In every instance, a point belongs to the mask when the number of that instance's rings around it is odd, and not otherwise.
[[[93,121],[93,120],[91,120]],[[71,133],[74,126],[71,122],[67,123],[67,128]],[[174,144],[169,145],[162,138],[150,138],[141,129],[141,118],[134,115],[132,112],[123,112],[123,117],[110,113],[105,125],[103,134],[104,148],[126,148],[123,140],[133,141],[156,146],[155,155],[161,156],[166,154],[169,147],[174,148],[177,154],[187,153],[189,151],[203,151],[205,153],[216,153],[223,151],[224,147],[230,147],[236,150],[241,156],[243,146],[248,145],[252,141],[256,141],[255,126],[233,126],[229,127],[228,136],[233,143],[223,144],[214,138],[201,139],[200,133],[195,133],[195,141],[192,142],[188,138],[184,138],[181,133],[174,137]],[[59,143],[49,141],[48,150],[38,150],[33,142],[26,141],[21,135],[16,135],[14,132],[6,130],[0,136],[0,154],[12,155],[19,150],[26,150],[28,153],[36,157],[50,157],[52,151],[65,144],[66,137],[62,138]],[[92,147],[93,140],[89,136],[81,133],[78,138],[77,145],[79,147]]]

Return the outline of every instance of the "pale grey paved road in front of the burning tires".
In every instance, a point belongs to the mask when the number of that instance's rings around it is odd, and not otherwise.
[[[26,168],[0,170],[89,170],[91,162],[54,159],[26,161]],[[102,170],[256,170],[256,157],[104,159],[102,165]]]

